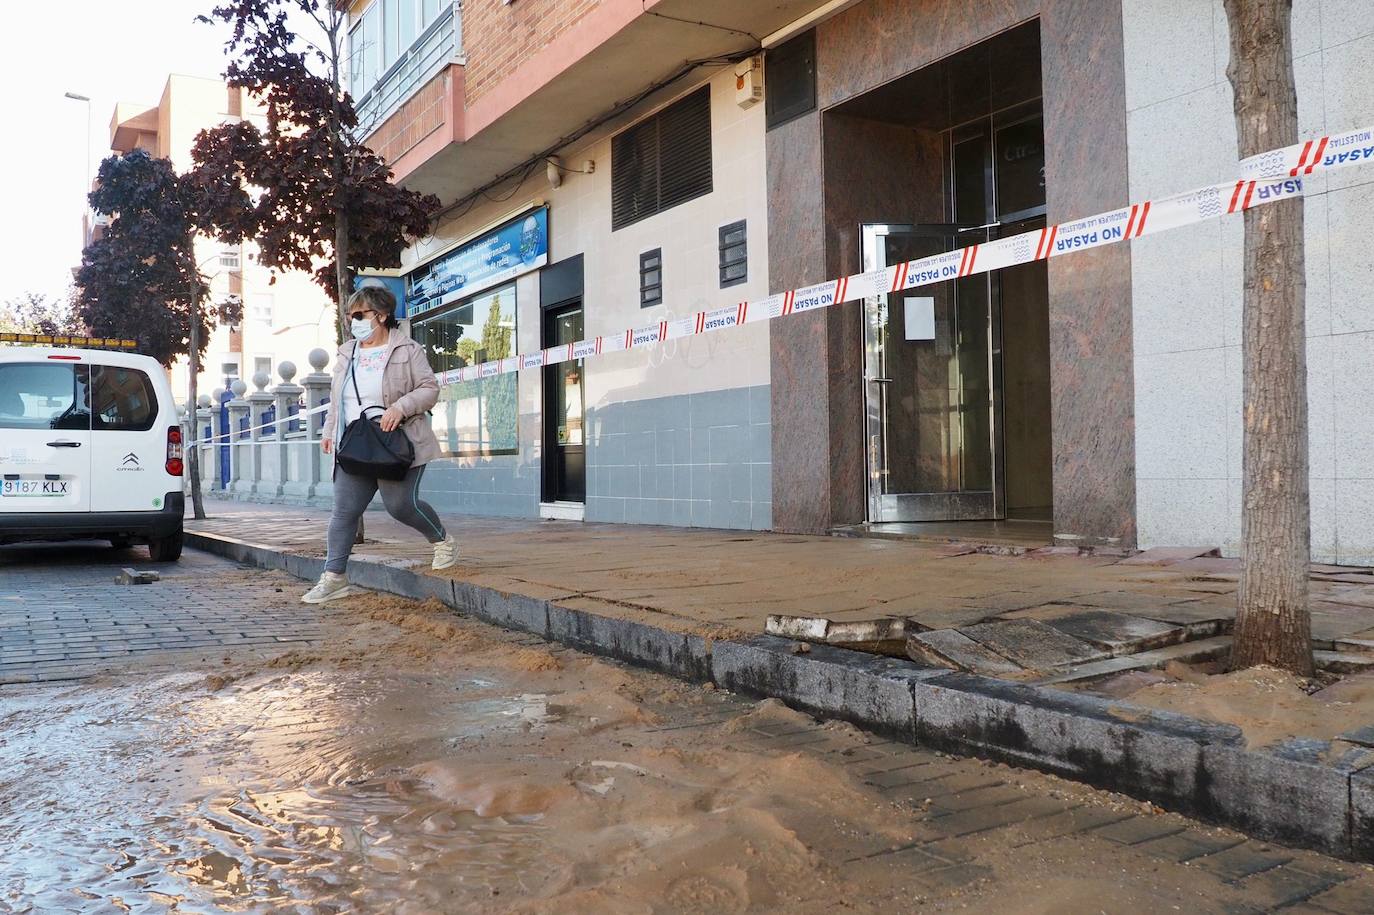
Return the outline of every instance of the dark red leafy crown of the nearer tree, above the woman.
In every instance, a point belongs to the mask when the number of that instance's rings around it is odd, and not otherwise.
[[[295,34],[289,15],[317,34]],[[438,198],[392,184],[386,162],[363,144],[344,89],[341,4],[234,0],[201,19],[231,26],[224,76],[262,100],[267,124],[225,124],[196,137],[195,210],[225,240],[253,239],[261,264],[315,272],[341,304],[342,334],[352,268],[398,267],[408,242],[429,234]]]

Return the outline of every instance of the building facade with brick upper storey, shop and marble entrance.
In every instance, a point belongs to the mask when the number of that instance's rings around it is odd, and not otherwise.
[[[1374,124],[1374,0],[1294,7],[1303,136]],[[385,278],[440,371],[1230,180],[1238,158],[1217,0],[350,16],[370,146],[445,203]],[[1371,195],[1351,169],[1305,205],[1312,544],[1347,563],[1374,563],[1353,412]],[[1234,554],[1239,258],[1239,220],[1217,220],[447,385],[451,460],[426,484],[478,514]]]

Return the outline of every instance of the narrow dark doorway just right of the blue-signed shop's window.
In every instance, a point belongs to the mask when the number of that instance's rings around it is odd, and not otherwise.
[[[583,338],[581,301],[544,310],[544,349]],[[587,501],[583,360],[544,367],[544,517],[581,519]],[[559,506],[563,511],[558,511]]]

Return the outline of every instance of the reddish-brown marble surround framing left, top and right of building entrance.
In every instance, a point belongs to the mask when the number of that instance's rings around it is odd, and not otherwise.
[[[834,106],[1041,16],[1051,221],[1127,202],[1121,14],[1099,0],[866,0],[816,30],[818,99]],[[837,174],[870,187],[892,154],[826,155],[820,115],[768,132],[769,286],[857,265],[856,206]],[[848,125],[853,126],[853,125]],[[877,129],[877,128],[875,128]],[[889,137],[896,139],[896,137]],[[916,152],[916,150],[912,150]],[[827,170],[829,169],[829,170]],[[827,185],[837,188],[826,194]],[[852,181],[844,185],[855,187]],[[899,195],[901,191],[896,191]],[[919,206],[916,207],[919,209]],[[1055,526],[1135,543],[1131,260],[1112,247],[1050,264]],[[824,530],[864,514],[857,304],[772,332],[774,526]]]

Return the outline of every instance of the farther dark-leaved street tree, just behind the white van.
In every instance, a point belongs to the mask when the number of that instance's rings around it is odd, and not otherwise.
[[[170,365],[190,359],[187,408],[195,411],[195,379],[212,323],[238,324],[242,302],[207,305],[209,284],[195,262],[195,209],[191,187],[172,162],[142,150],[100,163],[91,206],[110,216],[104,235],[81,254],[76,317],[95,337],[137,341],[139,352]],[[201,500],[199,449],[187,449],[191,506]]]

